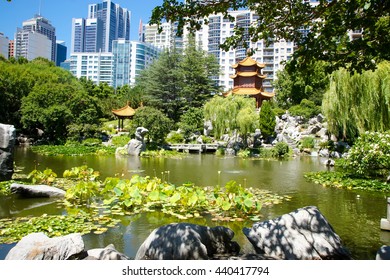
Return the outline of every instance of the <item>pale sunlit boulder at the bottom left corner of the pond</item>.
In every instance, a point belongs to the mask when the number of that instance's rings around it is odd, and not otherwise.
[[[79,233],[49,238],[44,233],[23,237],[5,257],[6,260],[68,260],[85,254]]]

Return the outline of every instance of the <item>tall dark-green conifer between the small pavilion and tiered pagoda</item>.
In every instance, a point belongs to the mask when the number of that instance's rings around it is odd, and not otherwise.
[[[197,47],[190,36],[184,52],[175,48],[164,51],[141,73],[137,85],[145,92],[147,105],[178,122],[185,111],[202,107],[219,91],[212,79],[218,74],[216,58]]]

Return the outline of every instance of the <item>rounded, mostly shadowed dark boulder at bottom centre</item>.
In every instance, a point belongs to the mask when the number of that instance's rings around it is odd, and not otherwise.
[[[168,224],[155,229],[138,249],[135,259],[207,260],[218,255],[237,255],[240,246],[226,227],[189,223]]]

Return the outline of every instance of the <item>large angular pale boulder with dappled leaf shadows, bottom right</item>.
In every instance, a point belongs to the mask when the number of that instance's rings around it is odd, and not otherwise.
[[[340,237],[314,206],[256,223],[243,232],[258,254],[288,260],[351,259]]]

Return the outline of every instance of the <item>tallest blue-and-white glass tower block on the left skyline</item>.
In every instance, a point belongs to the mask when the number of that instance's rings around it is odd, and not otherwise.
[[[88,5],[86,19],[72,19],[71,52],[111,52],[112,41],[130,40],[130,17],[111,0]]]

